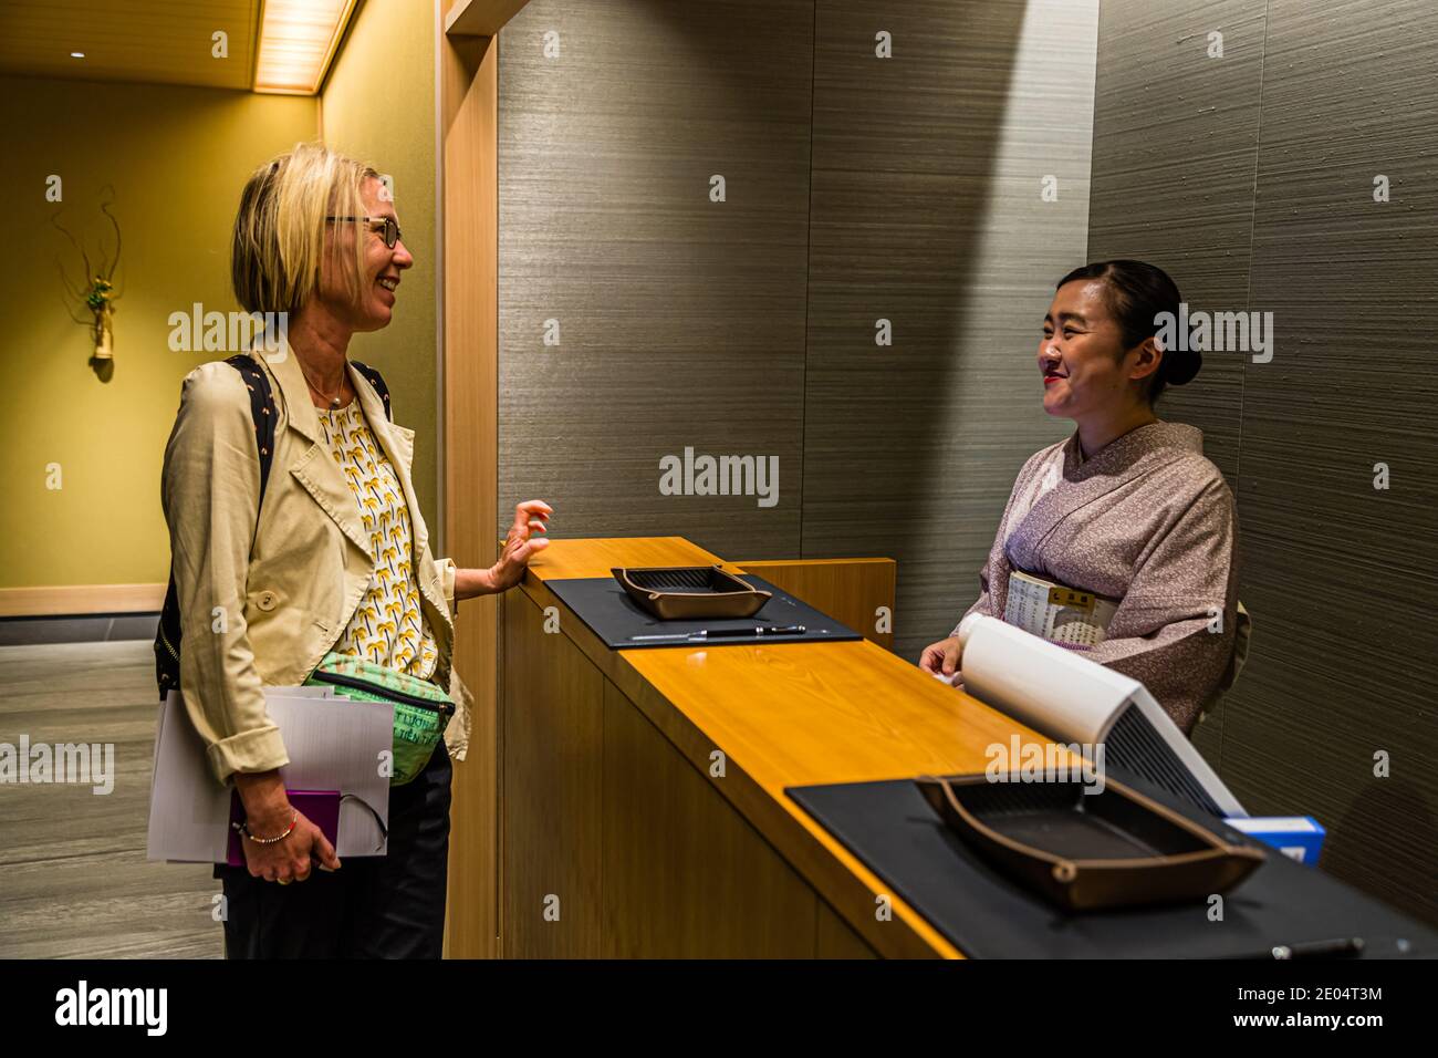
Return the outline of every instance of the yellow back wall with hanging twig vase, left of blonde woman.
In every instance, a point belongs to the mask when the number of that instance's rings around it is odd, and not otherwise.
[[[240,187],[265,158],[316,134],[313,99],[204,88],[0,78],[0,202],[12,246],[0,284],[0,587],[164,583],[170,540],[160,465],[180,380],[226,353],[171,351],[168,317],[234,308],[229,233]],[[63,180],[63,203],[45,200]],[[112,370],[89,364],[89,331],[56,271],[78,255],[49,219],[91,245],[115,189],[124,297]],[[46,488],[47,466],[60,488]]]

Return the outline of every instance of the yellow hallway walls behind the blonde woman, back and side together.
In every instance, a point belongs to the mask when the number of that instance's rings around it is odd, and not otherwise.
[[[321,98],[204,88],[0,78],[7,134],[0,199],[19,255],[0,285],[0,589],[162,584],[170,547],[160,465],[180,380],[229,350],[171,351],[170,314],[236,308],[229,232],[240,187],[260,161],[321,132],[393,174],[416,265],[394,322],[351,354],[384,371],[395,419],[418,435],[414,485],[436,533],[434,13],[424,0],[362,4]],[[377,75],[383,71],[383,76]],[[46,178],[63,202],[45,200]],[[109,226],[115,187],[124,297],[115,358],[98,373],[89,331],[62,301],[58,265],[82,266],[49,219],[60,212],[89,246]],[[58,465],[60,488],[47,488]]]

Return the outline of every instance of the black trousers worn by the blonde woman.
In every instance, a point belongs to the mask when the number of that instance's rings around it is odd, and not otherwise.
[[[312,861],[289,885],[217,864],[224,881],[226,959],[439,959],[449,869],[449,751],[443,740],[411,782],[390,787],[390,849]]]

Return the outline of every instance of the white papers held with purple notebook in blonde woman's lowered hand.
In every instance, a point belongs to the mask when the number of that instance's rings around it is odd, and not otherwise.
[[[286,789],[355,795],[339,802],[335,852],[341,858],[384,855],[390,779],[380,773],[380,760],[394,743],[394,705],[336,697],[328,687],[266,687],[265,708],[289,753],[289,763],[279,770]],[[443,751],[443,746],[436,749]],[[178,692],[170,691],[155,723],[147,858],[223,864],[233,789],[214,780],[204,740]],[[384,833],[355,797],[378,813]]]

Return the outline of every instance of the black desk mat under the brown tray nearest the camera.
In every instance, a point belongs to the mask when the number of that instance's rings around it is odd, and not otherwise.
[[[1212,823],[1152,786],[1120,782]],[[906,779],[785,793],[969,957],[1271,959],[1276,944],[1339,937],[1362,937],[1365,957],[1438,954],[1438,933],[1267,846],[1268,859],[1224,895],[1224,921],[1208,920],[1206,901],[1070,914],[988,867]]]

